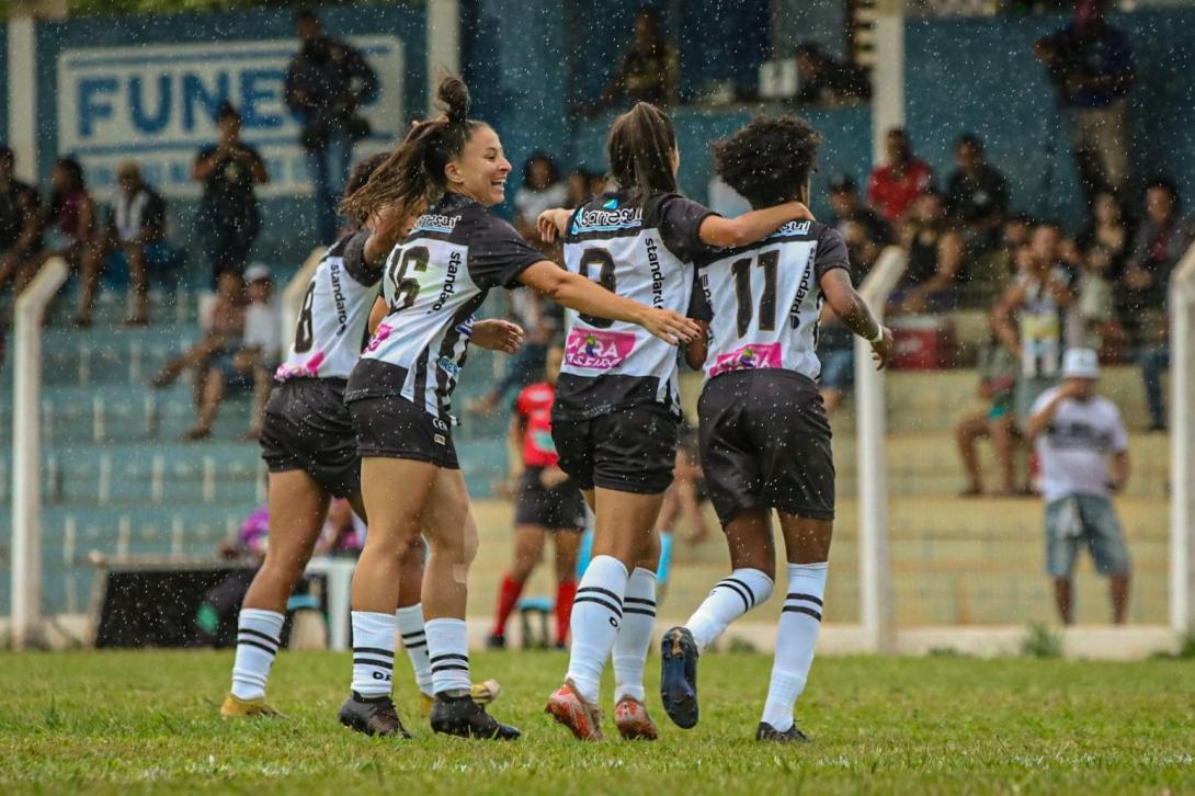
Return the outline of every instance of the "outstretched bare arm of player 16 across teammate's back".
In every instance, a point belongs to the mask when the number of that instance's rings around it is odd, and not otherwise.
[[[566,271],[550,259],[523,269],[519,281],[577,312],[637,324],[673,345],[699,333],[695,322],[672,310],[656,310],[612,293],[593,280]]]

